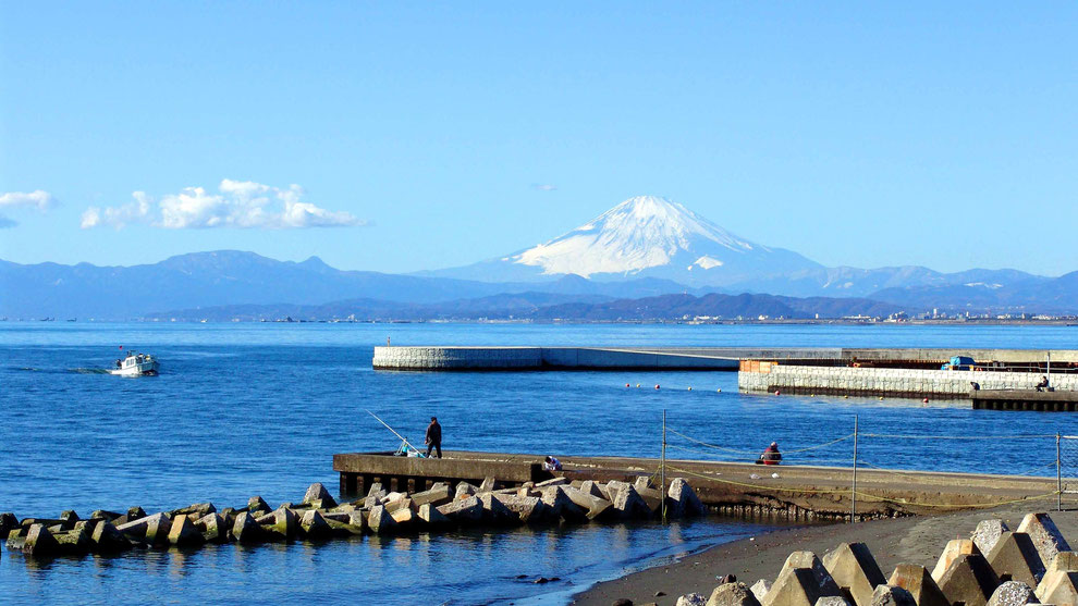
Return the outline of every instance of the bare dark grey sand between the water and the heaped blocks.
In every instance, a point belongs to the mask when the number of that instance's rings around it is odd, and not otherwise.
[[[719,584],[716,577],[723,574],[734,574],[749,585],[759,579],[774,581],[791,552],[809,551],[823,557],[840,543],[866,543],[887,577],[898,564],[919,564],[931,570],[947,541],[968,539],[977,522],[1001,518],[1012,530],[1017,530],[1022,517],[1034,511],[1049,511],[1068,542],[1078,543],[1078,511],[1057,512],[1054,505],[1025,504],[932,517],[775,530],[711,547],[673,565],[599,583],[576,595],[573,603],[610,606],[615,599],[628,598],[634,604],[673,605],[687,593],[710,596]],[[656,596],[657,592],[665,595]]]

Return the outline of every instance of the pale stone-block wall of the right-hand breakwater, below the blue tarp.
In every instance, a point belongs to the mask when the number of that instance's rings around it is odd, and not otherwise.
[[[746,361],[737,373],[737,385],[746,392],[965,399],[969,398],[973,383],[980,389],[1032,391],[1041,376],[1032,372],[816,367]],[[1057,373],[1051,376],[1057,392],[1078,391],[1078,374]]]

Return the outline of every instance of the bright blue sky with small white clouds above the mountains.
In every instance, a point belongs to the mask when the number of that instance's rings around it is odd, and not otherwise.
[[[5,1],[0,258],[414,271],[653,194],[831,265],[1078,269],[1078,7],[938,4]]]

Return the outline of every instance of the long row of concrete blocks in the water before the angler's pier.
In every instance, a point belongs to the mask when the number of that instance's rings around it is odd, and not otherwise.
[[[579,482],[554,478],[505,488],[493,478],[480,485],[434,483],[420,492],[389,492],[369,485],[365,497],[338,504],[324,486],[311,484],[299,504],[270,509],[258,496],[245,507],[218,509],[211,503],[147,515],[97,510],[82,519],[64,511],[57,519],[0,514],[0,539],[8,551],[34,557],[118,554],[133,548],[197,548],[208,543],[255,544],[360,537],[366,534],[437,532],[458,527],[583,523],[592,520],[698,516],[705,507],[684,479],[660,491],[649,478],[637,482]]]

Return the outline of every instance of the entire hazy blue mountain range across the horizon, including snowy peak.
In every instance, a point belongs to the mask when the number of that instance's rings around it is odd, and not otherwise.
[[[714,296],[745,293],[773,296]],[[404,316],[641,319],[660,308],[669,318],[834,318],[932,308],[1073,313],[1078,272],[1051,279],[1016,270],[825,268],[649,196],[628,199],[547,244],[412,275],[342,271],[317,257],[277,261],[235,250],[134,267],[0,261],[0,317],[12,319],[135,319],[211,308],[246,309],[253,317],[292,309],[302,316],[350,306],[370,318],[401,318],[409,310]]]

